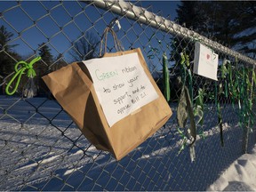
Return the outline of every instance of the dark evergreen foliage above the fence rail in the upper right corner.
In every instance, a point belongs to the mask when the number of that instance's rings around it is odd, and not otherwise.
[[[199,34],[255,57],[256,3],[181,1],[177,20]]]

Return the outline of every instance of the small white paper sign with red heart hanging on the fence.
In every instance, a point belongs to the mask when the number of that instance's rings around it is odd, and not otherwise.
[[[196,42],[194,57],[194,73],[218,81],[218,60],[218,54],[212,52],[212,50],[204,46],[204,44]]]

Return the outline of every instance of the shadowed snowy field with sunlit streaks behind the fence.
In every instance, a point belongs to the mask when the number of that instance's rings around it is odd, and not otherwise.
[[[191,163],[188,148],[178,155],[181,138],[176,130],[176,106],[171,107],[173,116],[170,122],[117,162],[108,152],[94,148],[56,101],[44,98],[21,100],[1,96],[0,188],[1,190],[206,190],[207,188],[222,190],[227,188],[228,181],[234,178],[224,180],[221,175],[222,173],[233,175],[229,171],[224,171],[243,155],[243,130],[238,126],[235,110],[231,106],[222,109],[225,141],[225,147],[222,148],[219,127],[216,126],[218,122],[216,111],[211,109],[214,108],[213,105],[208,106],[203,127],[204,138],[198,136],[196,161]],[[250,135],[250,138],[253,135],[255,137],[255,132]],[[248,156],[250,155],[245,155],[243,158]],[[253,156],[255,157],[255,154]],[[234,164],[238,174],[244,173],[247,165],[249,170],[255,166],[255,159],[237,160]],[[244,175],[253,177],[252,172]],[[220,179],[217,180],[219,177]],[[240,179],[238,181],[244,181]],[[210,186],[215,180],[217,184]]]

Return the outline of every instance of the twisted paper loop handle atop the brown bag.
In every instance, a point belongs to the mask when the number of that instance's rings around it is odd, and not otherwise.
[[[120,41],[118,40],[118,38],[116,36],[116,32],[112,28],[107,27],[107,28],[105,28],[103,36],[102,36],[101,41],[100,41],[100,57],[102,56],[103,44],[104,44],[103,54],[107,52],[108,32],[110,32],[110,34],[113,36],[116,51],[117,52],[123,51],[122,45],[121,45]],[[104,42],[104,40],[105,40],[105,42]]]

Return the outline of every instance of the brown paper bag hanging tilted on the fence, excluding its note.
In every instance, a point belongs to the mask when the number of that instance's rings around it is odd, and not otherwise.
[[[105,53],[104,57],[134,52],[138,54],[140,64],[158,98],[133,111],[111,127],[101,108],[90,72],[83,62],[72,63],[43,77],[56,100],[71,116],[84,136],[96,148],[111,152],[117,160],[147,140],[172,116],[172,110],[148,71],[140,49]]]

